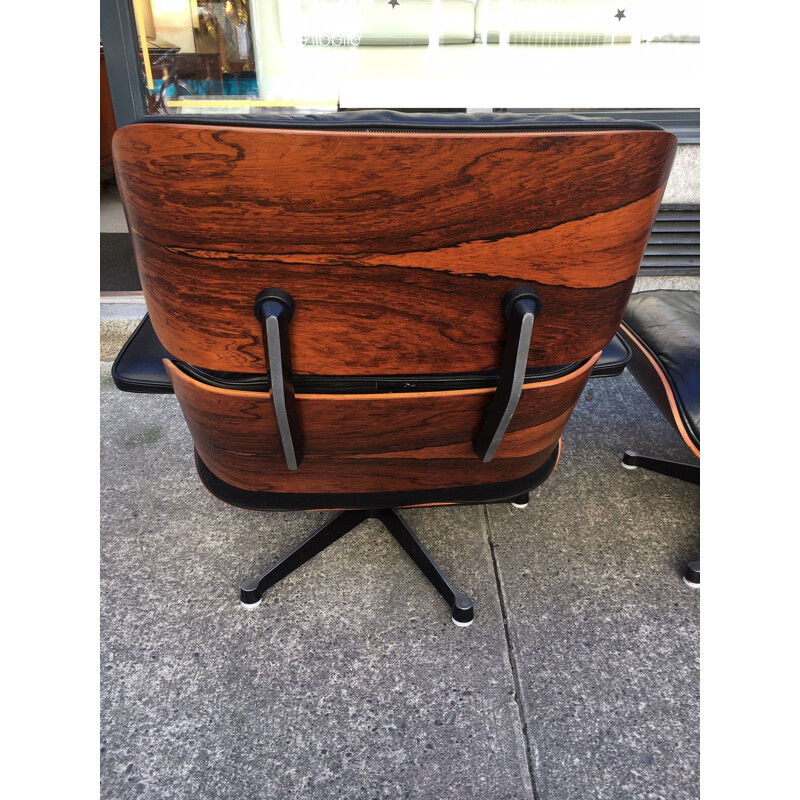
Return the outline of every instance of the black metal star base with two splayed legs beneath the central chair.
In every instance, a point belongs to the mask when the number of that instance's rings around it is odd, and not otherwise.
[[[265,572],[242,581],[239,596],[241,604],[246,608],[257,606],[261,602],[264,592],[270,586],[274,586],[367,519],[380,520],[389,533],[394,536],[398,544],[450,606],[453,622],[461,627],[471,625],[475,618],[472,600],[453,588],[414,531],[393,508],[340,511],[333,519],[312,533],[302,544]]]

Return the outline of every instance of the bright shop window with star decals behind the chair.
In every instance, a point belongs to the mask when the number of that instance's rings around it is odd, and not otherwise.
[[[151,113],[699,105],[696,0],[134,0]]]

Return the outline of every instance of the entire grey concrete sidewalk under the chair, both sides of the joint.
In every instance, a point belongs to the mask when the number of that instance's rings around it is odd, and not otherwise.
[[[246,611],[324,522],[209,495],[171,395],[101,364],[102,797],[699,796],[698,487],[627,374],[589,382],[531,505],[403,511],[476,621],[367,522]]]

